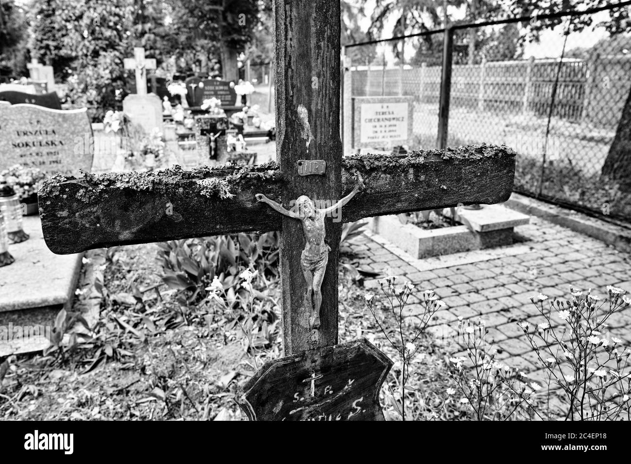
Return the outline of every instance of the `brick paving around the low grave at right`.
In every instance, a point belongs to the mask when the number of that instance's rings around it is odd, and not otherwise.
[[[520,318],[530,323],[541,321],[530,297],[543,293],[567,298],[570,285],[593,289],[601,296],[606,295],[606,285],[631,291],[631,254],[537,217],[516,227],[515,232],[518,242],[512,247],[517,247],[519,254],[495,258],[491,253],[477,262],[430,270],[419,269],[422,260],[413,259],[378,235],[360,235],[345,247],[360,267],[380,273],[365,281],[367,291],[379,290],[377,279],[384,275],[400,276],[401,283],[410,280],[419,290],[433,289],[447,304],[428,326],[435,337],[454,333],[459,318],[481,318],[487,323],[488,341],[498,348],[498,359],[533,372],[540,369],[536,355],[516,324]],[[480,252],[471,253],[480,256]],[[406,311],[410,316],[422,312],[420,300],[411,297]],[[611,335],[631,343],[631,307],[609,321]],[[461,349],[455,343],[445,347],[451,352]]]

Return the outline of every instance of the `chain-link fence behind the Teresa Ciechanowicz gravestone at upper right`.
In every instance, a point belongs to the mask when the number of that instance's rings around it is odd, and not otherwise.
[[[412,96],[408,149],[504,143],[517,153],[515,191],[629,221],[631,194],[603,174],[631,89],[631,35],[610,33],[607,19],[620,14],[610,8],[352,47],[351,92]],[[379,66],[386,46],[390,57],[405,47],[407,59]],[[370,50],[370,64],[355,66]]]

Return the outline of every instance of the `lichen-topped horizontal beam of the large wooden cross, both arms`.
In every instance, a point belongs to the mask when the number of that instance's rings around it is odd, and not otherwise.
[[[502,146],[468,146],[408,155],[357,155],[342,163],[343,194],[365,189],[342,209],[345,222],[403,211],[505,201],[514,155]],[[279,230],[280,214],[257,203],[286,188],[277,165],[179,167],[45,181],[38,203],[53,253],[189,237]],[[306,194],[307,192],[305,192]],[[331,205],[338,198],[318,199]],[[289,207],[290,205],[285,205]],[[316,201],[316,206],[318,202]]]

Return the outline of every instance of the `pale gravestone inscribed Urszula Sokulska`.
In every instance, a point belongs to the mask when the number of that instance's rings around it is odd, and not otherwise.
[[[0,170],[15,164],[46,174],[78,175],[92,165],[87,109],[0,105]]]

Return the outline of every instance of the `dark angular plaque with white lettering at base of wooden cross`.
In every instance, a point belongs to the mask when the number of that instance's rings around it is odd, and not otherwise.
[[[236,401],[250,420],[384,420],[392,361],[365,339],[268,362]]]

